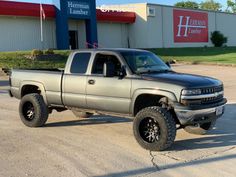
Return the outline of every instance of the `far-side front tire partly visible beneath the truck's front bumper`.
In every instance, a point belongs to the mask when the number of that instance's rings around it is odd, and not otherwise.
[[[205,135],[209,130],[211,130],[215,126],[215,120],[209,123],[204,123],[202,125],[189,125],[184,127],[184,130],[190,134],[195,134],[195,135]]]

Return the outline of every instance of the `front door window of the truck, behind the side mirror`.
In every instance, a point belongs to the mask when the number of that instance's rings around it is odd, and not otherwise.
[[[93,63],[92,74],[103,74],[104,63],[112,62],[115,67],[115,76],[119,75],[121,63],[114,55],[97,54]]]

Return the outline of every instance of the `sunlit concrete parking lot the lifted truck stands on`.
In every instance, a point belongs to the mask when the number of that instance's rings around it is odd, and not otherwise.
[[[43,128],[25,127],[19,101],[9,98],[0,79],[0,176],[209,176],[236,174],[236,68],[177,65],[175,71],[216,77],[229,100],[225,115],[208,135],[179,130],[175,144],[149,152],[136,143],[132,120],[70,111],[50,115]]]

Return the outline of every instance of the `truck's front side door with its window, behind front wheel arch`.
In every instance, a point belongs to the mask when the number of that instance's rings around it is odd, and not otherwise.
[[[114,77],[104,77],[105,62],[113,62]],[[129,113],[131,102],[131,79],[120,79],[118,73],[123,65],[119,56],[113,53],[97,53],[91,68],[91,75],[87,81],[87,106],[90,109],[115,113]]]

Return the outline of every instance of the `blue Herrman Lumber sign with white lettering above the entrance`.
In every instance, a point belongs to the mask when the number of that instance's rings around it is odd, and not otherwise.
[[[68,1],[68,15],[73,16],[90,16],[90,5],[86,2],[78,2],[78,1]]]

